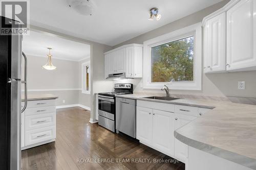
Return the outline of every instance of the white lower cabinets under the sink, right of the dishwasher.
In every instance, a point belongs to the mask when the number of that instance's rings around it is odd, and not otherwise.
[[[209,110],[137,100],[136,138],[148,147],[187,163],[188,145],[176,139],[174,131]]]

